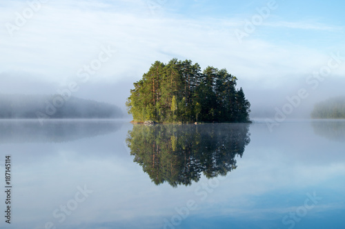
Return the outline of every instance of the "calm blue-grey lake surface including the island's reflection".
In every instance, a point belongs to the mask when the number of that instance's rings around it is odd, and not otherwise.
[[[0,121],[0,228],[345,228],[345,121]]]

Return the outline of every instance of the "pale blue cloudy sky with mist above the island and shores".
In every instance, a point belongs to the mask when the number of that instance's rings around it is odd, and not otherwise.
[[[252,117],[273,117],[277,110],[308,117],[315,102],[344,95],[344,5],[3,1],[0,93],[55,94],[77,83],[73,96],[125,110],[132,83],[152,63],[190,59],[202,69],[226,68],[235,75]]]

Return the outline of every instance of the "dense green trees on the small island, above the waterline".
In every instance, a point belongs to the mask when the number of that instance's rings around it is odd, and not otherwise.
[[[139,122],[246,122],[250,103],[236,80],[226,69],[208,66],[201,72],[190,60],[156,61],[134,83],[126,106]]]

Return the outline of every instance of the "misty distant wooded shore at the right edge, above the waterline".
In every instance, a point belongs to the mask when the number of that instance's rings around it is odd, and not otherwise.
[[[345,97],[335,97],[317,103],[311,117],[313,119],[345,119]]]

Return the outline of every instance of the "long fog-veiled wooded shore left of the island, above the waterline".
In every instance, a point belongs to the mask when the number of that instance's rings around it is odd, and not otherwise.
[[[77,97],[0,94],[0,119],[106,119],[122,115],[117,106]]]

